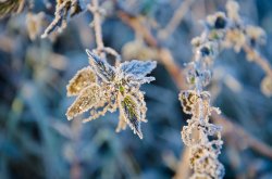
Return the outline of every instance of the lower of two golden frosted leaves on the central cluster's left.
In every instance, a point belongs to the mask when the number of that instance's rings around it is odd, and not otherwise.
[[[69,107],[66,112],[67,119],[88,111],[100,101],[100,87],[98,85],[90,85],[76,98],[75,102]]]

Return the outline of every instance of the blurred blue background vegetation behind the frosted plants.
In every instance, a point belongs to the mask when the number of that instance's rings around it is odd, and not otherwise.
[[[189,1],[189,2],[185,2]],[[51,2],[52,7],[46,7]],[[183,178],[185,146],[181,129],[189,116],[182,112],[178,87],[154,48],[120,17],[120,11],[137,16],[168,48],[182,68],[191,59],[190,39],[203,29],[201,20],[225,11],[225,0],[101,0],[107,14],[102,34],[107,47],[123,60],[158,60],[152,72],[156,81],[146,91],[148,123],[144,139],[131,129],[115,133],[118,113],[82,124],[67,120],[66,85],[74,74],[88,65],[85,49],[96,48],[89,12],[69,21],[61,34],[47,39],[40,35],[53,20],[51,1],[35,1],[35,7],[0,20],[0,178],[79,179],[79,178]],[[272,63],[272,1],[240,0],[245,22],[267,31],[260,52]],[[187,3],[183,18],[166,38],[159,38],[174,13]],[[272,145],[272,98],[260,90],[263,71],[249,63],[244,52],[226,50],[215,64],[209,90],[213,105],[254,136]],[[223,126],[224,127],[224,126]],[[272,178],[272,154],[263,155],[243,145],[243,138],[223,136],[220,161],[225,178]],[[183,166],[184,165],[184,166]],[[186,175],[184,175],[186,176]],[[186,177],[185,177],[186,178]]]

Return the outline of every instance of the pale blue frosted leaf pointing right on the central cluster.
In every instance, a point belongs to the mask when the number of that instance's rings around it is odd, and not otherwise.
[[[124,62],[121,64],[121,71],[127,75],[134,75],[136,77],[144,77],[151,73],[156,68],[156,61],[137,61],[133,60],[131,62]]]

